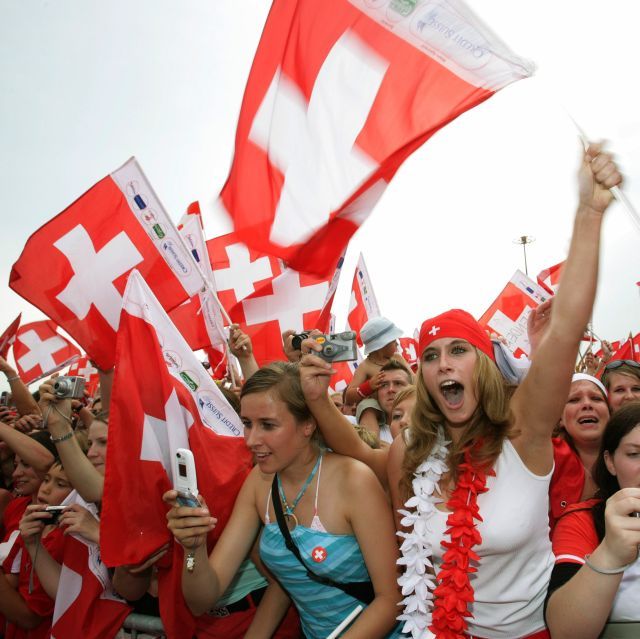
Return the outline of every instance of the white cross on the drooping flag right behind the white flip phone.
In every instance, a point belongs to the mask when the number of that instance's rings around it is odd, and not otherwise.
[[[193,425],[193,415],[180,404],[175,390],[171,391],[164,409],[164,420],[144,416],[140,459],[160,462],[173,483],[171,455],[177,448],[189,448],[188,433]]]

